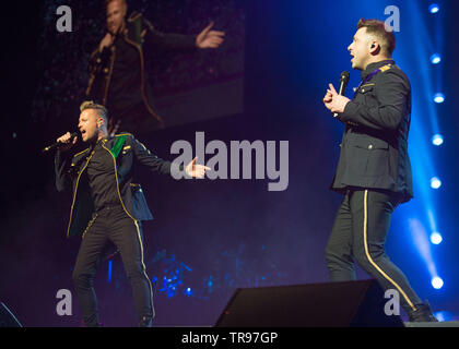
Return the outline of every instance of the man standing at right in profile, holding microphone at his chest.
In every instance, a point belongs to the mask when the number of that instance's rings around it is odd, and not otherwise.
[[[355,279],[354,261],[385,290],[400,294],[410,322],[435,322],[403,273],[389,260],[385,242],[396,207],[413,197],[408,156],[411,86],[391,59],[393,32],[384,22],[362,19],[352,44],[352,68],[362,83],[351,100],[332,84],[325,106],[344,123],[331,189],[344,194],[326,248],[332,281]]]

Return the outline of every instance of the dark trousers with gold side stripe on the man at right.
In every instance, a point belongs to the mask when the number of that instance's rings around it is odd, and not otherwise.
[[[355,261],[385,290],[397,290],[401,306],[410,313],[421,300],[385,252],[390,218],[398,204],[399,197],[389,192],[348,190],[327,243],[326,261],[331,281],[354,280]]]

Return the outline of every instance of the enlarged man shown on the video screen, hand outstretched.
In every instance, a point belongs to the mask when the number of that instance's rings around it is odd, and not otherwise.
[[[145,72],[146,49],[217,48],[224,33],[210,23],[200,34],[165,34],[139,12],[127,16],[126,0],[106,0],[107,33],[90,57],[86,97],[110,110],[108,131],[137,132],[164,128],[155,111]]]

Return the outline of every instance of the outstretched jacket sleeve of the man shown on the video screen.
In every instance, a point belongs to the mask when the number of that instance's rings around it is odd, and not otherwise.
[[[142,16],[143,35],[148,46],[158,46],[166,49],[193,50],[196,35],[166,34],[157,31],[146,19]]]

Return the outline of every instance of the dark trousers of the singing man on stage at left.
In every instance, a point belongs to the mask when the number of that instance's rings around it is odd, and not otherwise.
[[[106,207],[93,215],[83,234],[73,269],[73,284],[86,326],[98,326],[98,309],[93,287],[94,275],[107,242],[119,250],[132,287],[139,324],[154,317],[152,285],[143,264],[143,237],[140,221],[130,218],[122,206]]]

